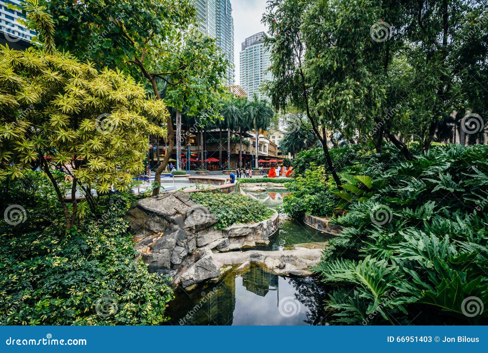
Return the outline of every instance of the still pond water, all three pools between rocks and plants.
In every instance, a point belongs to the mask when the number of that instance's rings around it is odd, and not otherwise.
[[[247,190],[244,191],[247,192]],[[283,203],[286,189],[252,195],[268,207]],[[325,246],[331,235],[293,220],[281,220],[270,243],[249,250],[283,250],[293,245]],[[260,267],[242,273],[230,270],[218,282],[202,283],[192,291],[179,288],[169,303],[168,325],[327,325],[324,299],[329,289],[315,277],[278,276]]]

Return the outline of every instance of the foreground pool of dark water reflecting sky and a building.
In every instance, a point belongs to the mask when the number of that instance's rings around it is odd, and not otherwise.
[[[313,277],[251,267],[190,292],[178,290],[167,313],[172,325],[317,325],[325,323],[326,291]]]

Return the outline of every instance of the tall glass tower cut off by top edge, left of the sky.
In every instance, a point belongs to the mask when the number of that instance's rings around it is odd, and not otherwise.
[[[234,19],[230,0],[195,0],[200,30],[217,40],[217,45],[229,62],[225,85],[235,82],[234,70]]]

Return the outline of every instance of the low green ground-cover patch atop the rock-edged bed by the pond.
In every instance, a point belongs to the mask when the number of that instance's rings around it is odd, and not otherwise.
[[[234,223],[257,223],[273,215],[273,210],[261,201],[237,193],[195,192],[191,194],[191,200],[217,217],[216,228],[226,228]]]

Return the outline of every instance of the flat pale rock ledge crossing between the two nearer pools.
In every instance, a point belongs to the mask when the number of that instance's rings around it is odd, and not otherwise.
[[[204,256],[185,271],[181,277],[181,285],[189,287],[196,283],[213,279],[222,274],[228,266],[239,266],[236,271],[243,271],[249,266],[258,265],[265,271],[278,275],[310,276],[310,268],[320,261],[323,249],[295,248],[282,251],[240,251],[213,253],[209,249]]]

